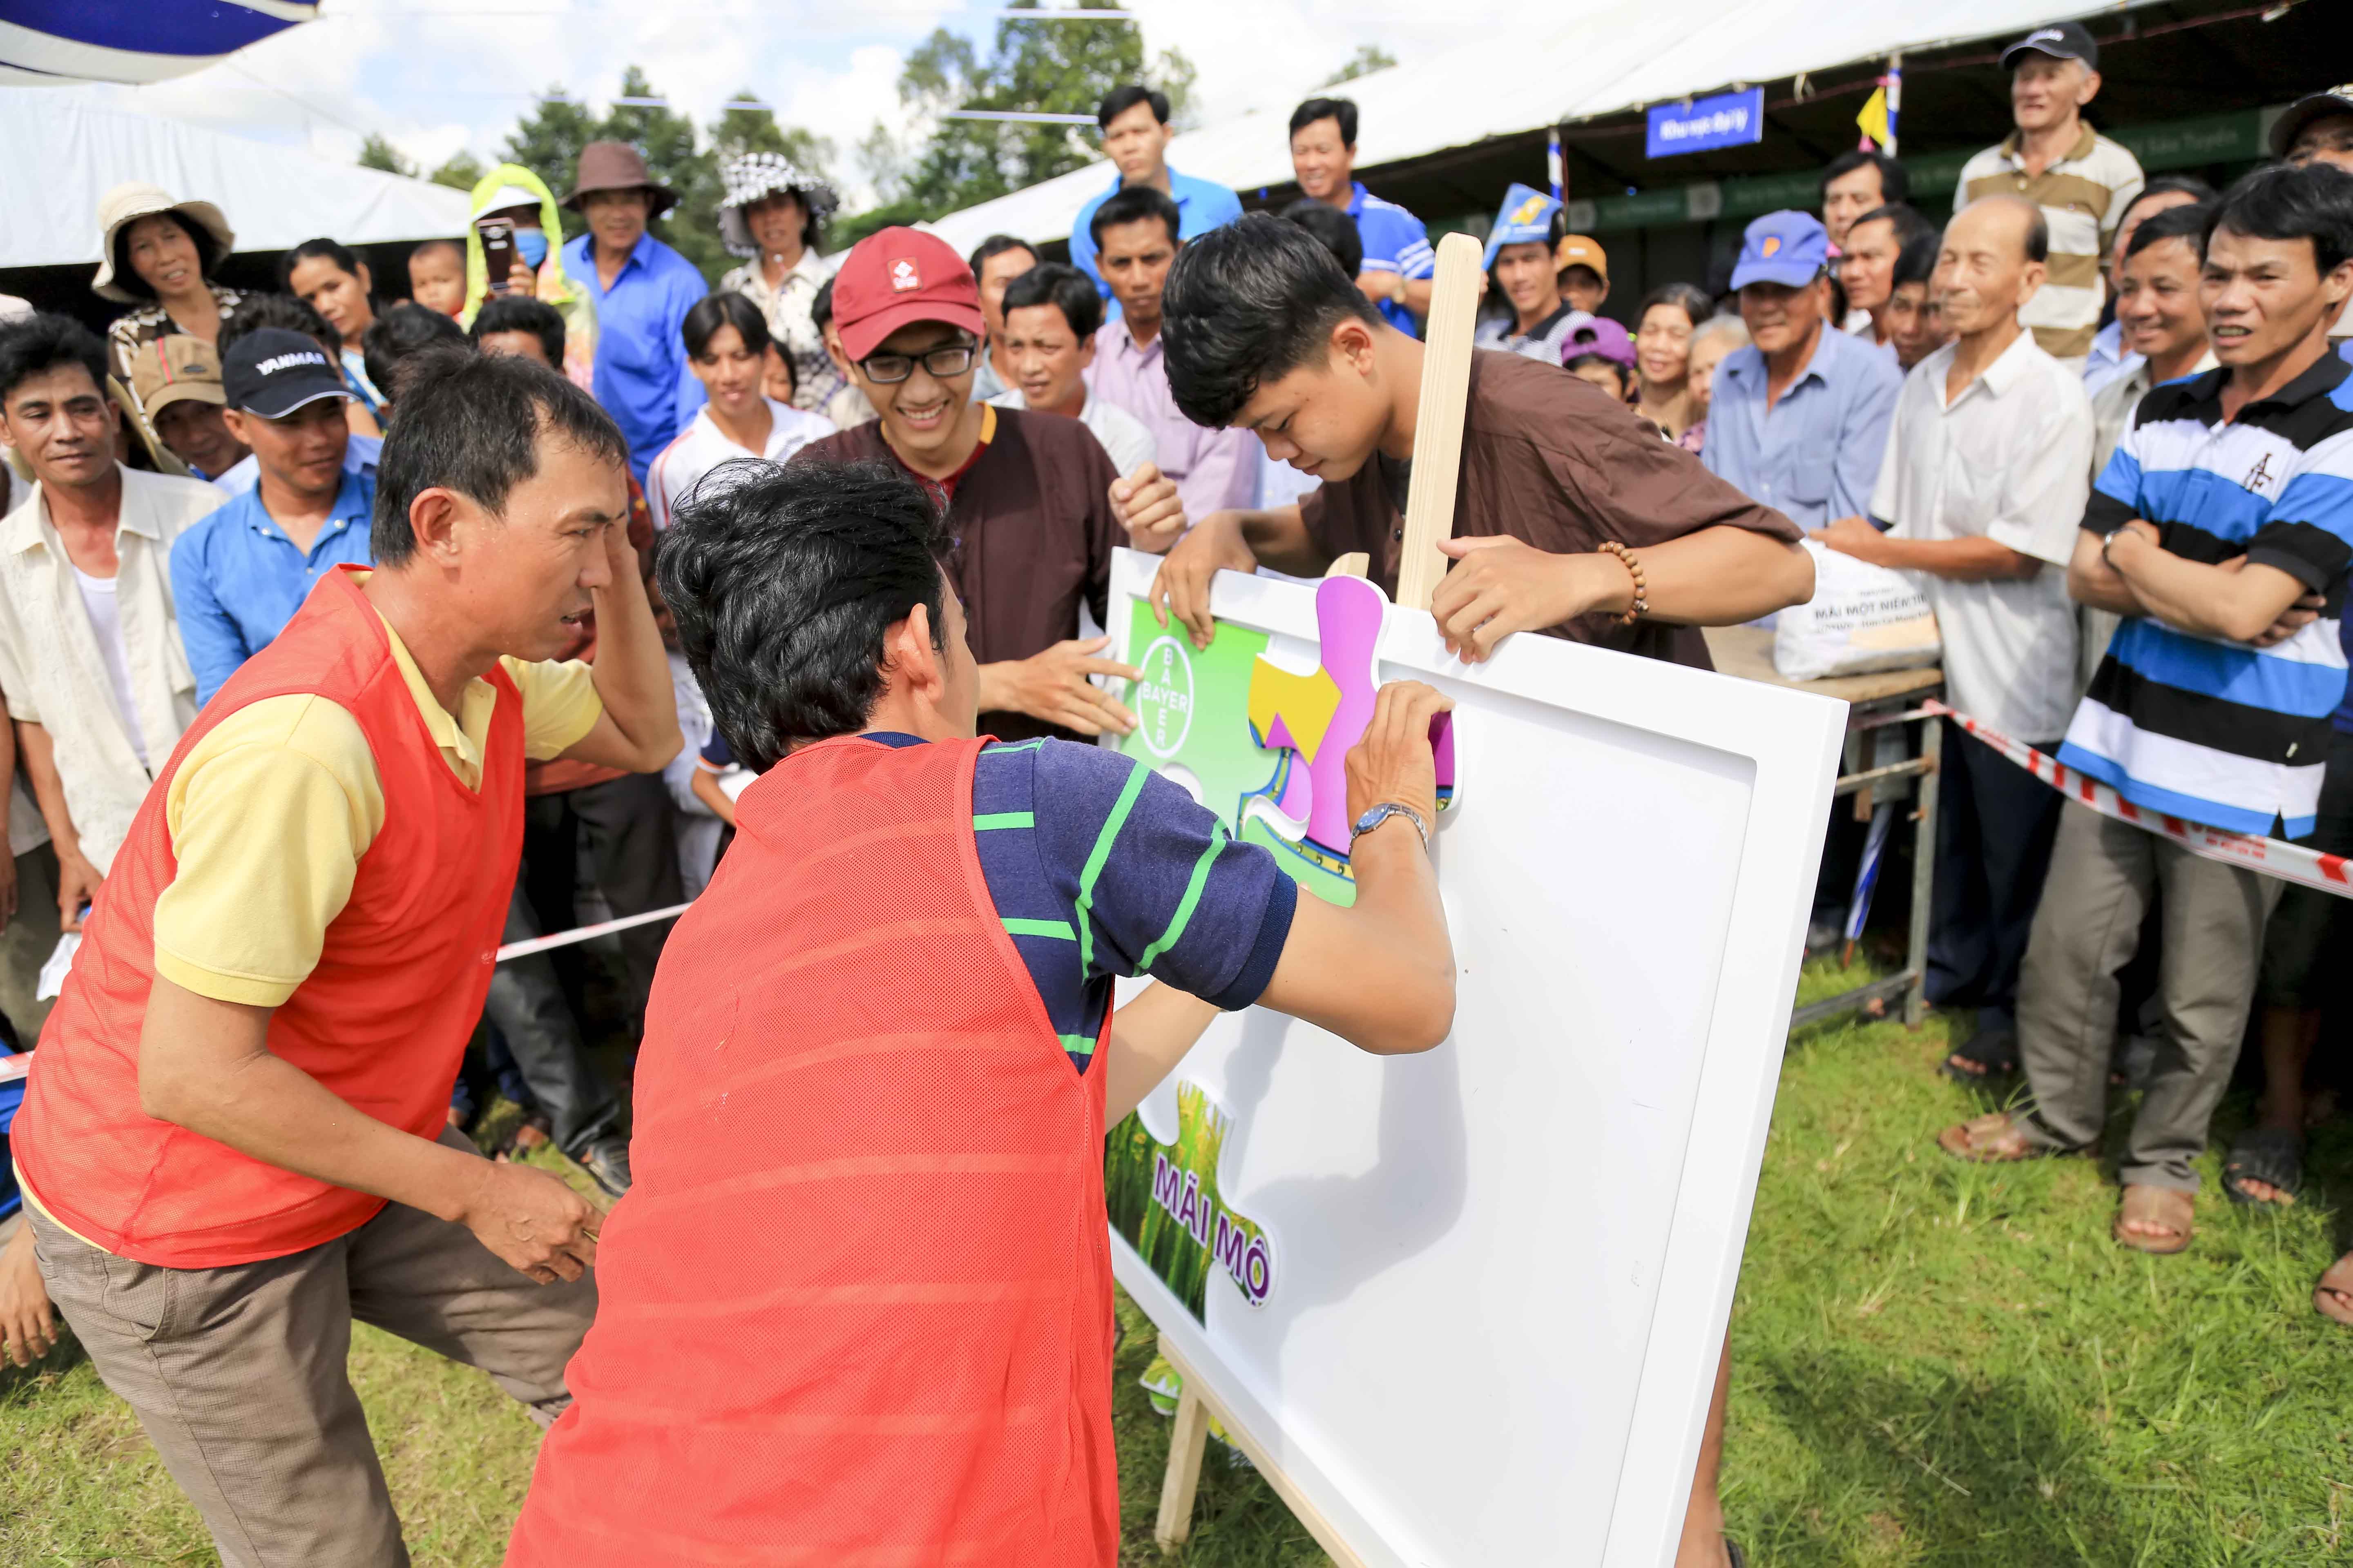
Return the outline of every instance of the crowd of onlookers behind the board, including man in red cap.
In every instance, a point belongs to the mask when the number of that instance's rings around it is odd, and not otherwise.
[[[1513,186],[1478,343],[1595,383],[1821,548],[1908,574],[1958,710],[2127,802],[2348,853],[2353,367],[2332,339],[2353,292],[2353,89],[2289,108],[2275,162],[2217,193],[2144,179],[2094,129],[2099,47],[2080,24],[2038,28],[2002,66],[2012,125],[1941,223],[1897,158],[1845,153],[1819,214],[1746,226],[1722,299],[1657,287],[1631,331],[1602,315],[1605,247],[1569,233],[1555,195]],[[673,219],[715,223],[741,256],[718,292],[652,228],[675,195],[609,141],[560,200],[492,169],[473,226],[409,254],[407,301],[334,237],[287,252],[278,289],[228,289],[228,214],[146,183],[106,193],[92,289],[127,310],[104,339],[61,315],[0,327],[14,1039],[35,1039],[35,971],[101,896],[181,733],[325,574],[369,564],[400,364],[435,343],[593,390],[628,440],[647,576],[673,508],[729,461],[896,463],[960,541],[984,729],[1132,729],[1099,679],[1134,675],[1101,637],[1111,550],[1297,508],[1318,482],[1245,428],[1193,423],[1169,388],[1169,270],[1240,200],[1167,165],[1160,92],[1120,87],[1099,129],[1115,179],[1080,209],[1068,263],[1014,235],[958,256],[904,228],[828,256],[833,188],[774,153],[734,158],[718,209]],[[1435,254],[1355,179],[1355,103],[1301,103],[1301,197],[1280,216],[1412,334]],[[574,656],[593,651],[588,621]],[[748,776],[675,644],[673,677],[687,755],[666,773],[532,764],[508,940],[661,910],[711,877]],[[1944,755],[1929,999],[1974,1011],[1953,1077],[2026,1088],[1944,1145],[2094,1145],[2118,1041],[2151,1032],[2115,1234],[2179,1251],[2252,1030],[2266,1091],[2226,1187],[2294,1201],[2306,1121],[2329,1110],[2308,1072],[2346,903],[2068,811],[1958,729]],[[598,1046],[638,1027],[661,933],[504,964],[452,1121],[504,1093],[527,1112],[515,1138],[553,1138],[626,1192],[621,1079]],[[2155,978],[2125,997],[2144,943]],[[2315,1300],[2353,1324],[2348,1265]]]

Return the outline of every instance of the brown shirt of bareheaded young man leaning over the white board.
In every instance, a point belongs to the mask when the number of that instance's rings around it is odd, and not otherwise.
[[[1299,503],[1308,536],[1332,557],[1365,550],[1372,578],[1398,592],[1405,541],[1400,496],[1405,465],[1365,463]],[[1591,381],[1511,353],[1473,350],[1464,414],[1464,468],[1454,489],[1454,538],[1508,534],[1553,555],[1598,550],[1614,538],[1628,550],[1661,545],[1699,529],[1729,524],[1795,543],[1798,524],[1732,489],[1699,458],[1659,437],[1659,428]],[[1642,658],[1711,670],[1699,628],[1591,614],[1546,628]]]

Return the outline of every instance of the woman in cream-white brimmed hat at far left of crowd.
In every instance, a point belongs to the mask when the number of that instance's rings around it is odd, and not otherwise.
[[[106,329],[113,376],[132,383],[141,343],[174,331],[219,346],[242,294],[212,282],[238,235],[212,202],[176,202],[162,186],[115,186],[99,200],[99,273],[89,292],[134,306]]]

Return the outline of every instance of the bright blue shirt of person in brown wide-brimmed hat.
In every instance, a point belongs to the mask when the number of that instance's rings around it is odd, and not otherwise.
[[[645,468],[704,407],[704,383],[687,369],[680,329],[711,284],[694,263],[654,235],[640,235],[628,261],[602,284],[581,235],[565,247],[565,275],[595,301],[595,400],[628,440],[628,473],[645,484]]]

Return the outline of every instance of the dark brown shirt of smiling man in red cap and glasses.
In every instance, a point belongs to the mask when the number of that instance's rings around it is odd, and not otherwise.
[[[955,482],[948,574],[965,602],[972,656],[988,665],[1028,658],[1078,637],[1085,599],[1101,625],[1111,611],[1111,550],[1127,538],[1111,515],[1120,475],[1094,433],[1061,414],[991,409],[995,433]],[[882,423],[852,425],[809,442],[795,463],[896,463]],[[932,487],[936,494],[936,487]],[[1000,741],[1068,736],[1019,712],[984,712],[981,733]]]

